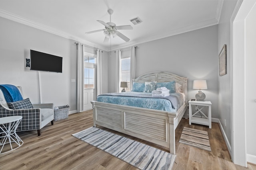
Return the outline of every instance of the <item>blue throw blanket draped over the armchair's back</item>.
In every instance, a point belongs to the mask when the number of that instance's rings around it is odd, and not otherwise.
[[[4,98],[6,102],[16,102],[19,100],[23,100],[20,90],[11,84],[1,84],[0,89],[4,94]]]

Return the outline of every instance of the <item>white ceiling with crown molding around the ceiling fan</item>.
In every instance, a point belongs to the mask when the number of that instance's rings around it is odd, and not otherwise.
[[[111,40],[112,50],[218,24],[223,0],[0,0],[0,16],[110,51],[96,20],[132,25],[120,30],[130,38]],[[130,19],[143,22],[133,25]]]

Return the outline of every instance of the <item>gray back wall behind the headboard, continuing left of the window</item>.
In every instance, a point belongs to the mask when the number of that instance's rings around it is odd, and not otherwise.
[[[115,91],[116,55],[109,57],[109,92]],[[111,61],[111,62],[110,62]],[[188,98],[194,99],[193,80],[207,80],[203,90],[212,102],[212,117],[218,118],[218,25],[138,44],[136,77],[166,71],[188,77]]]

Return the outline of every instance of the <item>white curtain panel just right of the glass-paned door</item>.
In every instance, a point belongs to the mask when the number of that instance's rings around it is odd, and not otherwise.
[[[97,96],[102,94],[102,51],[97,49]]]

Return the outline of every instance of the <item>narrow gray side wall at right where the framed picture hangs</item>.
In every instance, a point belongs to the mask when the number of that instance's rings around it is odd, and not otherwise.
[[[224,1],[222,13],[218,24],[218,53],[226,44],[227,53],[227,74],[218,77],[218,99],[219,99],[219,119],[224,129],[229,145],[231,146],[231,48],[230,48],[230,19],[236,6],[237,0]],[[226,120],[226,126],[225,126]]]

